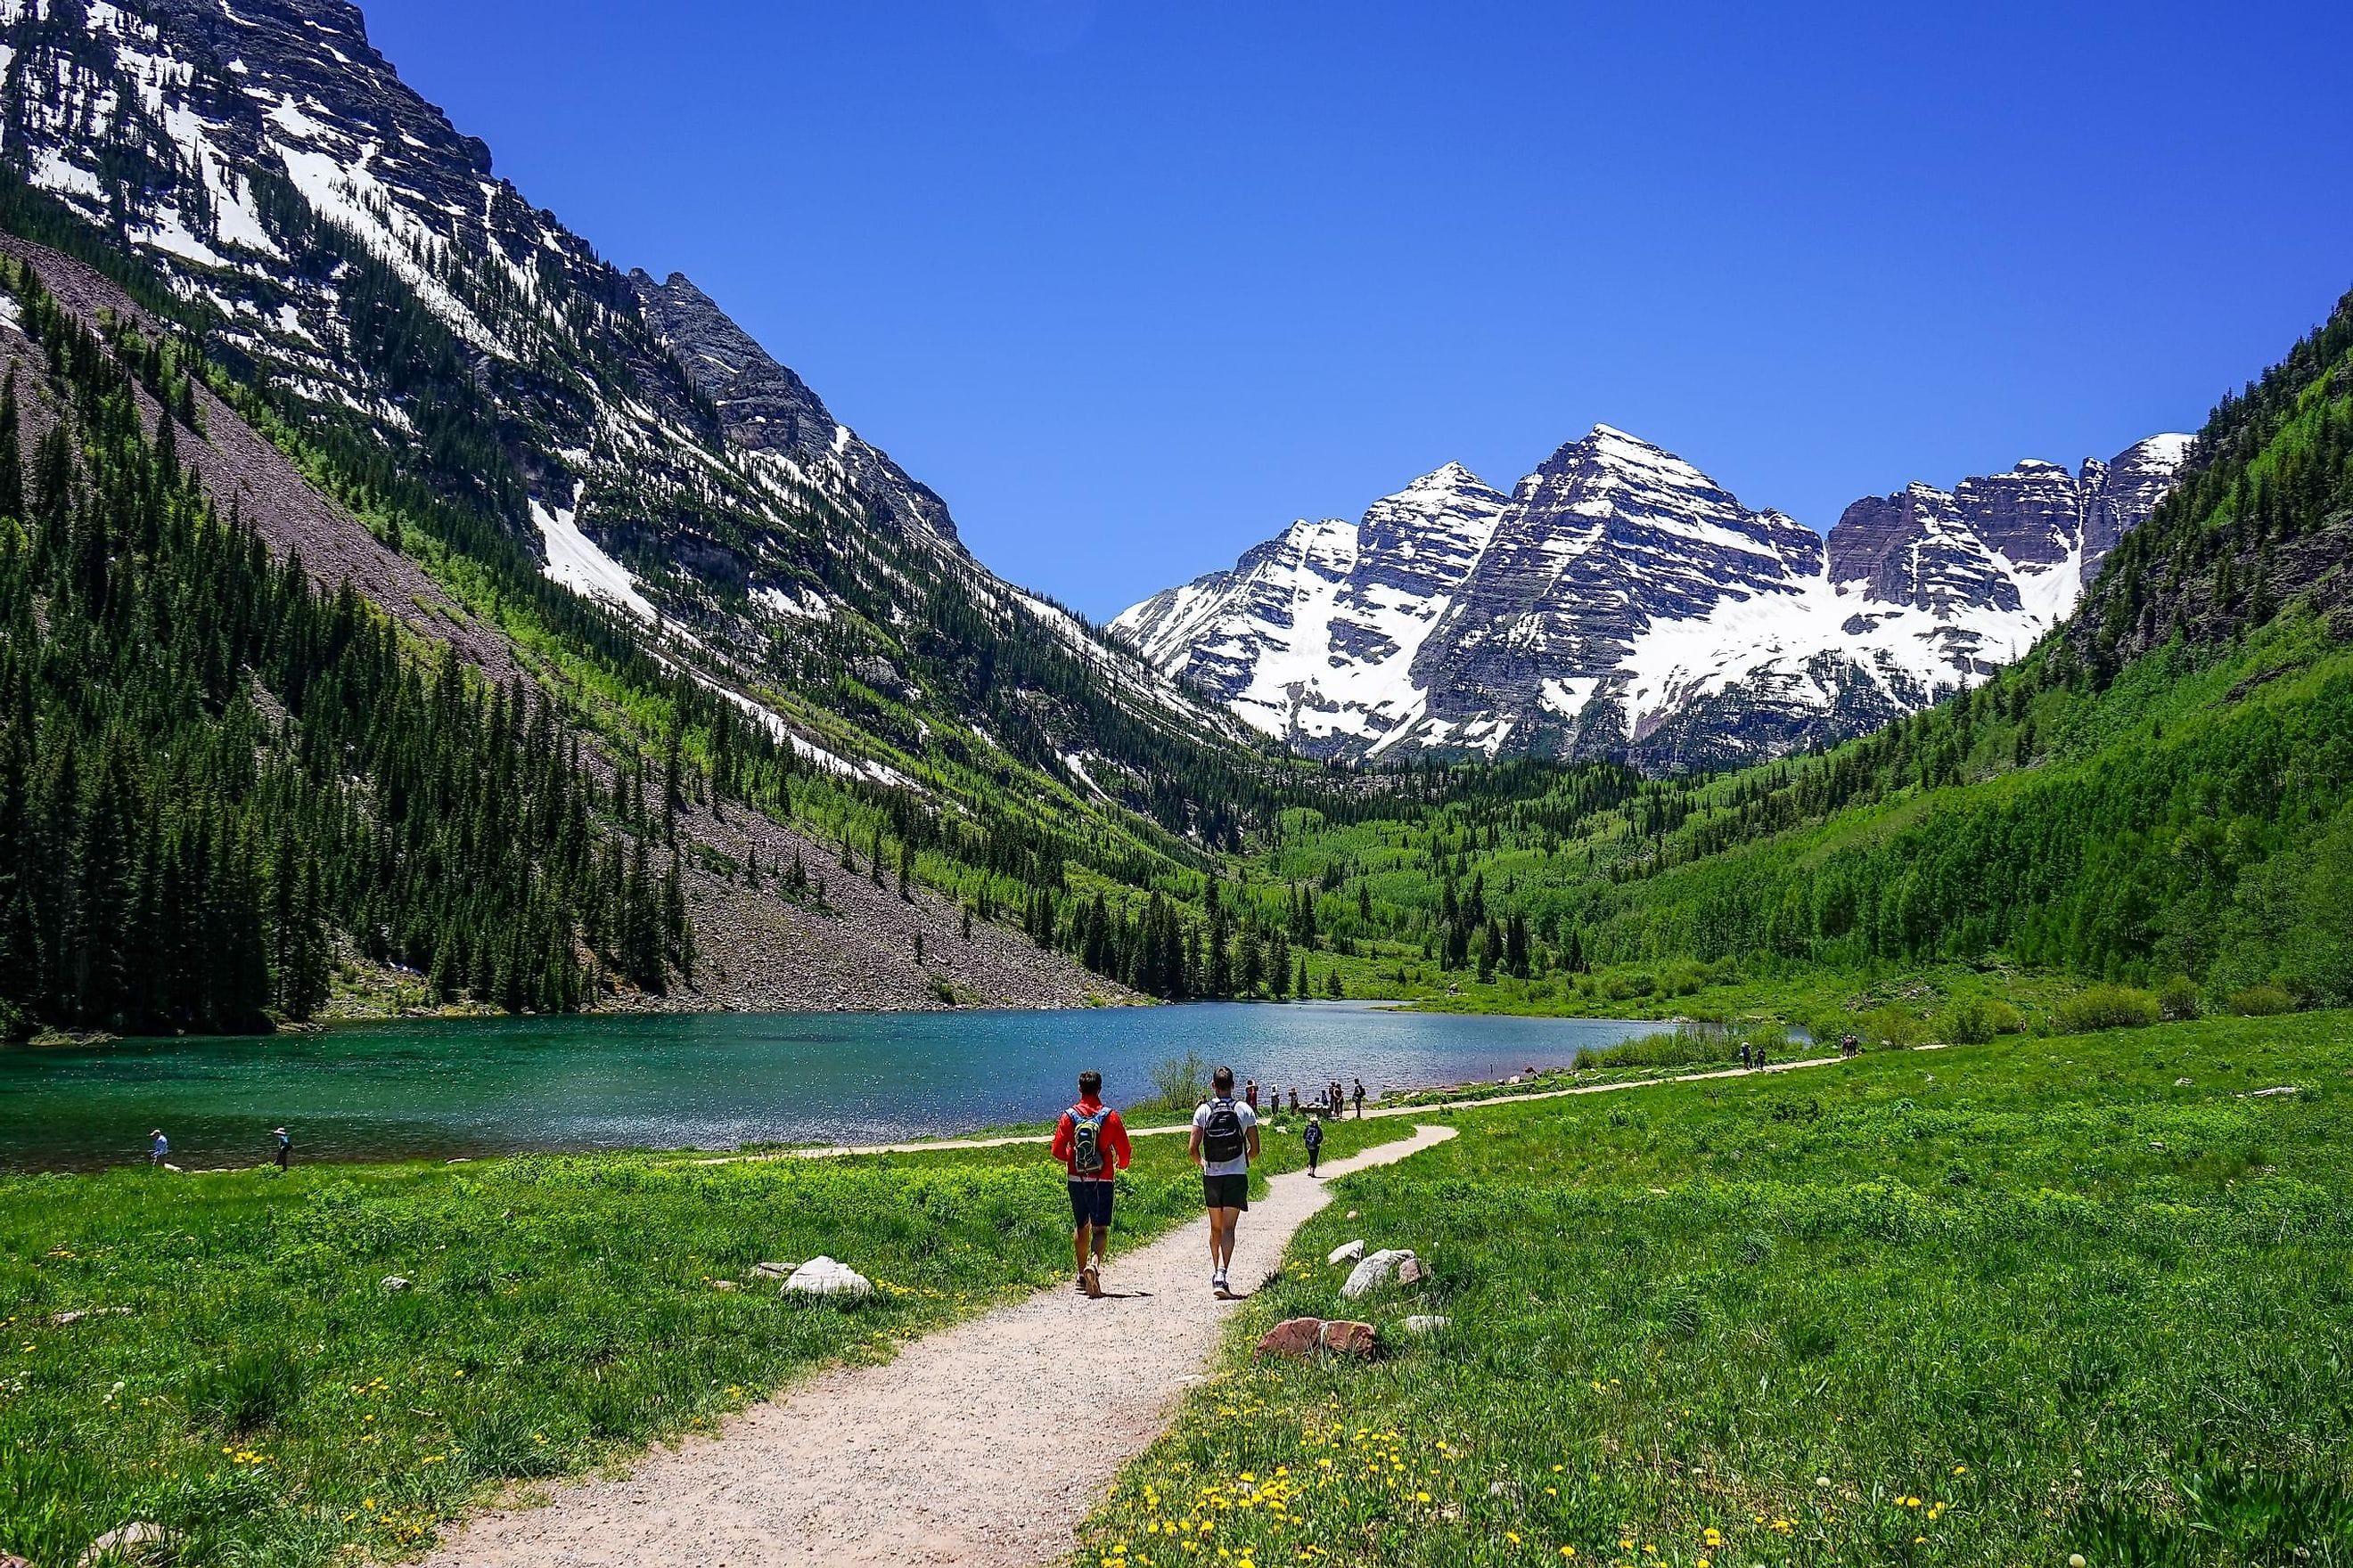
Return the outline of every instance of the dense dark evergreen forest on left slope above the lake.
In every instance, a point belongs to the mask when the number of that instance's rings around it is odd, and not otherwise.
[[[0,1006],[14,1025],[304,1018],[336,947],[442,997],[659,990],[694,936],[652,811],[546,701],[421,661],[221,515],[132,367],[16,270],[0,383]],[[16,428],[42,409],[31,473]]]

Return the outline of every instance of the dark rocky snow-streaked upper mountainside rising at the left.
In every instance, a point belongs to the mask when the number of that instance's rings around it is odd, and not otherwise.
[[[826,766],[904,778],[885,752],[948,722],[1165,799],[1155,748],[1242,738],[995,578],[682,275],[624,275],[532,207],[358,7],[0,0],[0,158],[209,310],[289,423],[494,517]]]

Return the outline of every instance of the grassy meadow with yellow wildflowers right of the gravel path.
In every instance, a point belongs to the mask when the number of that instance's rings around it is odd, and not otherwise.
[[[1464,1112],[1242,1324],[1412,1246],[1391,1359],[1235,1363],[1085,1561],[2353,1561],[2348,1070],[2320,1013]]]

